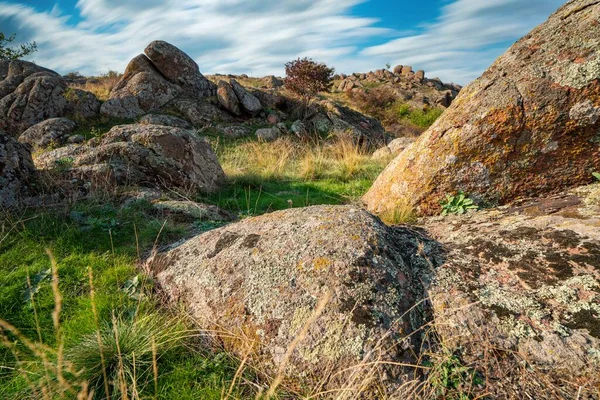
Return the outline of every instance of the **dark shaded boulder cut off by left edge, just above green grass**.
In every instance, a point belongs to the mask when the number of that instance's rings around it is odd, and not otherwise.
[[[31,194],[35,167],[31,153],[6,132],[0,130],[0,207],[15,207]]]

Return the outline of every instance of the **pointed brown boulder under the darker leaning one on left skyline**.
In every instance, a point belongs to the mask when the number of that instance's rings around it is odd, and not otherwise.
[[[173,100],[181,88],[167,81],[143,54],[129,62],[121,80],[102,104],[103,114],[136,118]]]

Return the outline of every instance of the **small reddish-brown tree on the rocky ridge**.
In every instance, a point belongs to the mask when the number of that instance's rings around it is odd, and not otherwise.
[[[334,69],[310,58],[298,58],[285,64],[285,87],[304,100],[304,109],[317,93],[328,90]]]

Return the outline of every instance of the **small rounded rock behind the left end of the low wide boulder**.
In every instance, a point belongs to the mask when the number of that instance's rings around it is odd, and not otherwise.
[[[68,118],[50,118],[28,128],[19,136],[19,142],[41,149],[62,146],[69,140],[75,126],[75,122]]]

